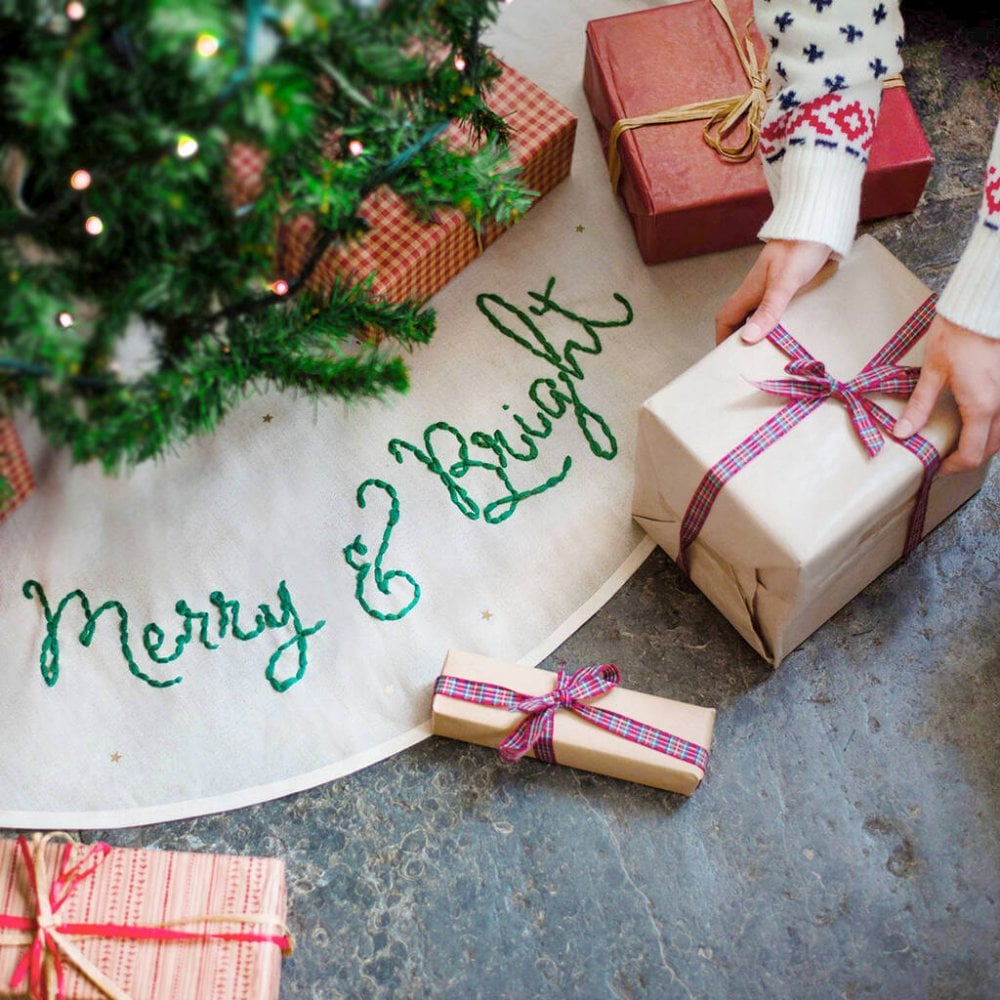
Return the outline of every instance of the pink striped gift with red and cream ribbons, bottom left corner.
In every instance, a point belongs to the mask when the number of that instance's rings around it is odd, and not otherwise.
[[[285,905],[277,859],[0,840],[0,996],[276,1000]]]

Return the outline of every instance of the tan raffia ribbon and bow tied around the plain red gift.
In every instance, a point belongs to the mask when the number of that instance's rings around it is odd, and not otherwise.
[[[757,50],[750,39],[750,25],[753,23],[753,18],[750,18],[743,28],[741,43],[733,25],[729,8],[726,6],[726,0],[711,0],[711,3],[726,25],[740,65],[750,83],[750,90],[745,94],[736,94],[733,97],[717,97],[709,101],[680,104],[675,108],[657,111],[650,115],[619,118],[611,127],[608,142],[608,176],[611,179],[612,190],[618,190],[622,169],[621,156],[618,152],[618,139],[625,132],[634,128],[642,128],[644,125],[672,125],[677,122],[701,121],[707,118],[708,121],[702,130],[702,138],[722,159],[732,163],[744,163],[756,151],[757,143],[760,141],[761,125],[767,112],[767,56],[765,55],[763,61],[758,63]],[[898,74],[882,81],[883,90],[902,86],[903,78]],[[742,133],[738,135],[740,141],[734,140],[727,144],[725,140],[741,119],[744,128]]]

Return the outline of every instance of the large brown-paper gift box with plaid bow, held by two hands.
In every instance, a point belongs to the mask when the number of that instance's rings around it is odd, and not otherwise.
[[[891,435],[933,301],[861,237],[766,341],[730,337],[640,410],[635,519],[775,665],[982,484],[934,478],[950,398]]]

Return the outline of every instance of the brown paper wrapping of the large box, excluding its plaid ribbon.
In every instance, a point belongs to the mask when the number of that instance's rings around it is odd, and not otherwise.
[[[792,302],[782,325],[847,380],[928,294],[888,250],[863,236]],[[919,365],[925,341],[900,363]],[[770,343],[751,347],[730,337],[643,404],[632,510],[671,557],[706,470],[786,402],[748,380],[781,378],[787,361]],[[894,416],[902,413],[903,400],[876,399]],[[943,456],[960,426],[954,402],[942,398],[922,433]],[[827,400],[725,485],[689,550],[691,579],[777,666],[899,560],[922,474],[920,462],[891,439],[869,458],[845,407]],[[925,533],[984,477],[985,470],[938,477]],[[903,573],[899,580],[917,600],[919,578]]]

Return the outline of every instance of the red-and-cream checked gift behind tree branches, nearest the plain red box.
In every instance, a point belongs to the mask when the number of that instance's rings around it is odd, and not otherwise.
[[[576,138],[576,116],[531,80],[504,63],[487,102],[511,128],[511,162],[521,181],[539,196],[569,175]],[[453,124],[445,137],[468,142]],[[247,146],[234,150],[237,187],[252,192],[264,154]],[[474,226],[457,209],[441,209],[434,221],[421,221],[390,188],[373,191],[359,215],[371,224],[361,240],[331,247],[313,272],[309,287],[329,288],[335,279],[361,280],[374,274],[375,292],[394,301],[424,300],[440,291],[462,268],[492,243],[504,227],[494,222]],[[305,263],[313,224],[300,218],[282,234],[282,269],[296,274]]]

